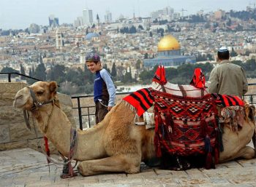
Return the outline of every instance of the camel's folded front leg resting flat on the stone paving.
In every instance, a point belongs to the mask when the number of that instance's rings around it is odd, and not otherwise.
[[[134,154],[121,154],[104,159],[80,162],[78,171],[83,176],[95,175],[103,172],[140,172],[141,157]]]

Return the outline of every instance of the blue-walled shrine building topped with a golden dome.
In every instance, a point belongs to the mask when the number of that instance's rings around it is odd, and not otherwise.
[[[155,65],[177,67],[185,63],[196,63],[195,56],[181,55],[181,45],[171,35],[164,36],[158,43],[157,57],[144,59],[144,67],[153,68]]]

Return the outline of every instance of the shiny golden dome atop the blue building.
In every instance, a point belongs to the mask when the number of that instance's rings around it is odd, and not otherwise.
[[[181,49],[180,44],[178,44],[178,41],[176,38],[171,36],[170,34],[167,36],[164,36],[158,43],[158,51],[171,51]]]

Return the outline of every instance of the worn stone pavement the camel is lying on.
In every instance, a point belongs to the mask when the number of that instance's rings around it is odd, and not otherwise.
[[[94,175],[61,179],[61,165],[50,164],[45,156],[30,148],[0,151],[0,186],[80,186],[80,187],[171,187],[239,186],[256,187],[256,159],[218,164],[215,170],[170,171],[147,168],[142,172]]]

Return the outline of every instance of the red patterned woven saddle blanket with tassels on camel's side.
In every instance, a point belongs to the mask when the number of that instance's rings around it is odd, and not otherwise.
[[[157,156],[164,148],[170,154],[210,154],[218,159],[217,108],[211,95],[187,98],[156,90],[152,95]]]

